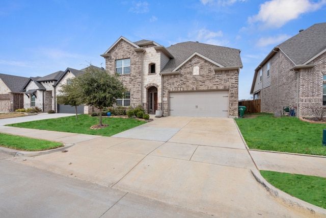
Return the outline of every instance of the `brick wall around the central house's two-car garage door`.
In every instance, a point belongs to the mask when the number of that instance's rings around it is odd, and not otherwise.
[[[199,75],[193,75],[193,68],[199,66]],[[229,116],[238,115],[238,70],[214,71],[216,66],[199,56],[180,67],[179,75],[163,78],[163,113],[169,115],[169,92],[199,90],[229,90]]]

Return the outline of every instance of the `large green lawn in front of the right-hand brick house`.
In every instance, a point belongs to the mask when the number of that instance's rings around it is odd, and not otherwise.
[[[326,156],[326,146],[322,146],[326,124],[289,116],[274,117],[274,114],[235,121],[250,149]]]

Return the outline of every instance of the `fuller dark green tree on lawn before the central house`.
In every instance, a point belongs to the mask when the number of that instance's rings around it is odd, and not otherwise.
[[[122,99],[125,88],[117,75],[109,75],[104,69],[90,65],[83,75],[76,78],[83,103],[93,105],[99,111],[99,126],[102,126],[102,110],[112,107]]]

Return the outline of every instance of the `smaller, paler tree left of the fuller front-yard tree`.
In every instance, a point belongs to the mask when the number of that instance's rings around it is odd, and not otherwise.
[[[60,94],[57,96],[58,104],[75,106],[76,119],[77,106],[83,104],[83,99],[80,98],[78,85],[75,82],[76,78],[72,79],[70,83],[61,85]]]

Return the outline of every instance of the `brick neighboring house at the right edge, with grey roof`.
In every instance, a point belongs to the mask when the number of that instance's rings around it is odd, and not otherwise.
[[[257,66],[251,87],[261,112],[295,109],[312,117],[326,110],[326,22],[318,23],[274,47]]]

